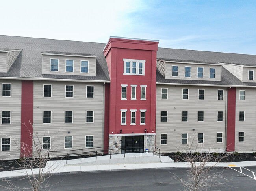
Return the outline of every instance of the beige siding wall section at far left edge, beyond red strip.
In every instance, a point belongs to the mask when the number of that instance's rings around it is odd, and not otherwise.
[[[2,83],[11,84],[11,97],[2,97]],[[0,159],[20,158],[21,81],[0,80],[0,93],[0,141],[11,137],[11,151],[0,148]],[[11,124],[2,124],[2,111],[11,111]]]

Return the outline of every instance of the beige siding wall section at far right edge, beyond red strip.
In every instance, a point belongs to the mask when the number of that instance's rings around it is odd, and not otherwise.
[[[239,101],[239,91],[245,90],[245,100]],[[256,151],[256,102],[255,88],[236,88],[236,151]],[[245,121],[239,121],[239,111],[245,111]],[[244,142],[238,141],[238,133],[245,132]]]

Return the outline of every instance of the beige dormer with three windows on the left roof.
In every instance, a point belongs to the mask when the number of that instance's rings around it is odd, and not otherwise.
[[[42,74],[96,76],[96,56],[84,53],[43,52]]]

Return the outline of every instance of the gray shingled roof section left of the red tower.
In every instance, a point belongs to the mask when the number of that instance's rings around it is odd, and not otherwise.
[[[22,49],[21,53],[7,73],[2,77],[55,78],[78,80],[110,80],[108,66],[103,54],[105,43],[53,40],[0,35],[2,49]],[[42,74],[43,52],[79,53],[95,55],[96,76],[45,75]]]

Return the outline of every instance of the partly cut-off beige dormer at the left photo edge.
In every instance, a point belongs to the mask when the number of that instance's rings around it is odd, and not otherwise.
[[[22,49],[0,48],[0,72],[8,72]]]

